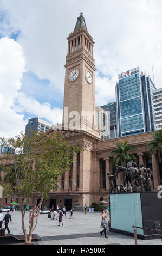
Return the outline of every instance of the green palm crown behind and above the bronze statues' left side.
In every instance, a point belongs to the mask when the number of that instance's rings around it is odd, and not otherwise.
[[[134,161],[137,161],[137,158],[130,154],[130,151],[134,151],[135,147],[132,145],[129,145],[127,141],[122,143],[116,143],[116,149],[112,150],[109,153],[109,156],[114,156],[113,158],[113,167],[116,166],[124,166],[126,167],[126,164],[129,160],[133,159]]]

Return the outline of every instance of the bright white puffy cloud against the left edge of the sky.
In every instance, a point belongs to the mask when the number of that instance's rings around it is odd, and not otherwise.
[[[17,90],[21,87],[21,78],[25,62],[21,46],[12,39],[0,39],[0,135],[15,136],[24,130],[24,115],[13,109]]]

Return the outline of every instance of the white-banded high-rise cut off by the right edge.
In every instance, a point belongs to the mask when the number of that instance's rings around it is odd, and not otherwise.
[[[162,128],[162,88],[153,91],[156,130]]]

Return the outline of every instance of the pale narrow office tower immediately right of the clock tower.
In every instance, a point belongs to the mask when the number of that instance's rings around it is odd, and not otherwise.
[[[96,126],[100,128],[100,136],[103,141],[109,138],[109,112],[101,107],[96,107]]]

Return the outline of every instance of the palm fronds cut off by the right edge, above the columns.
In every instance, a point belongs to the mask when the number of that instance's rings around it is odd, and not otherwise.
[[[162,150],[162,130],[158,132],[152,132],[154,141],[148,143],[146,146],[150,148],[150,155],[158,153],[158,160],[161,162],[161,150]]]

